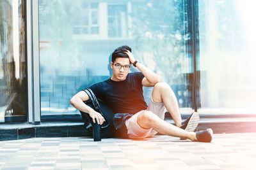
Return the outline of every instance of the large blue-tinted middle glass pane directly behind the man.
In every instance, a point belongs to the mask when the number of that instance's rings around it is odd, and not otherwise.
[[[172,86],[180,107],[190,108],[184,1],[88,4],[87,9],[92,11],[88,27],[79,20],[83,2],[40,0],[43,117],[79,113],[69,104],[71,97],[111,76],[109,56],[122,45],[131,46],[138,60]],[[136,69],[132,67],[131,71]],[[152,89],[145,88],[144,92],[148,102]]]

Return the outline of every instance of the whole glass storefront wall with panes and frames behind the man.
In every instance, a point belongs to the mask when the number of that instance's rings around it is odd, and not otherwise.
[[[122,45],[172,87],[182,114],[254,114],[248,8],[238,0],[1,0],[0,122],[81,120],[70,98],[111,77],[111,52]],[[143,90],[148,102],[152,88]]]

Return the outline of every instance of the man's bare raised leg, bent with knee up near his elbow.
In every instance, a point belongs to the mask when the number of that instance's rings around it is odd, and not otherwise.
[[[172,116],[175,125],[181,126],[179,104],[171,87],[164,82],[156,83],[152,92],[152,99],[156,103],[164,103],[166,110]]]

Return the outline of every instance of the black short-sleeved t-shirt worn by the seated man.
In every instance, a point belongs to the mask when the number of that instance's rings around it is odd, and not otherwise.
[[[89,88],[114,113],[135,114],[147,109],[141,84],[143,78],[141,72],[129,73],[124,81],[113,81],[109,78]]]

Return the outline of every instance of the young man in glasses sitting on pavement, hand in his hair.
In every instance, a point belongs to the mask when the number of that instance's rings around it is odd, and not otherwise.
[[[114,113],[131,113],[132,117],[123,123],[129,138],[147,138],[159,132],[169,136],[177,136],[191,141],[211,142],[212,129],[194,132],[199,122],[198,113],[194,112],[182,124],[179,106],[171,87],[161,82],[159,76],[143,66],[134,58],[129,46],[120,46],[112,53],[111,69],[113,76],[106,81],[90,86],[95,96],[106,103]],[[140,72],[129,73],[133,64]],[[142,87],[154,87],[150,103],[144,101]],[[83,103],[90,97],[78,92],[70,100],[77,110],[84,111],[92,117],[93,122],[104,122],[100,113]],[[169,111],[175,125],[164,121],[164,108]]]

